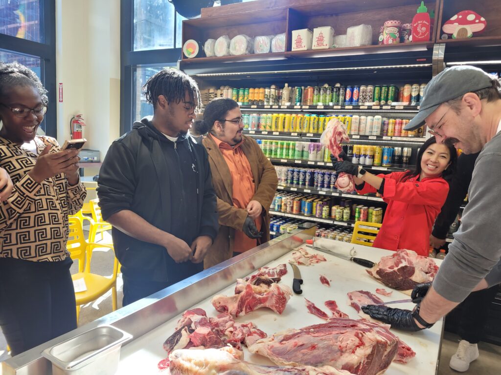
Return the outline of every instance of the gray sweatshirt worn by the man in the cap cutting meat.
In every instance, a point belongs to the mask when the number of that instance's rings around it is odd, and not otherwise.
[[[501,132],[485,144],[476,159],[461,226],[454,234],[433,288],[461,302],[485,277],[501,282]]]

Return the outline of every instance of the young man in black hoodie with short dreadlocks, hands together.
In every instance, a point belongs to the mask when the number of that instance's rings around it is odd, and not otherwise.
[[[201,105],[196,82],[166,69],[145,89],[154,114],[111,144],[97,189],[124,306],[201,271],[218,229],[207,152],[187,135]]]

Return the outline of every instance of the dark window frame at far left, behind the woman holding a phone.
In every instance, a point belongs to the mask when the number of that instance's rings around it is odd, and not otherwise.
[[[41,35],[44,42],[22,39],[0,33],[3,50],[40,58],[40,75],[49,96],[49,106],[45,115],[45,133],[57,137],[57,97],[56,83],[56,0],[40,1]]]

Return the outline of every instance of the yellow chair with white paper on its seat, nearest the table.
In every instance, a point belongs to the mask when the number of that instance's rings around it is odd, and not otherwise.
[[[96,247],[108,247],[113,250],[113,246],[101,243],[87,242],[84,237],[82,223],[77,217],[69,218],[70,234],[67,248],[71,258],[78,260],[78,273],[73,274],[73,280],[83,278],[87,290],[76,292],[77,302],[77,322],[80,315],[80,305],[89,303],[111,289],[113,311],[117,309],[117,272],[118,259],[113,262],[113,273],[111,278],[101,276],[91,272],[92,251]]]

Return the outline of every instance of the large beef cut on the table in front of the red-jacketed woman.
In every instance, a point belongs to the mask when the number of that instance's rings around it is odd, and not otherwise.
[[[437,274],[438,266],[427,256],[401,249],[391,255],[383,256],[374,267],[366,271],[386,286],[397,290],[409,290],[420,282],[432,281]]]

